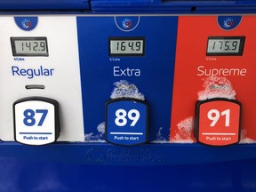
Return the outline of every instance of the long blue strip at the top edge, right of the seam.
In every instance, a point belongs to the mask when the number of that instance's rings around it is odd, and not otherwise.
[[[238,13],[256,12],[256,1],[91,0],[93,12]]]

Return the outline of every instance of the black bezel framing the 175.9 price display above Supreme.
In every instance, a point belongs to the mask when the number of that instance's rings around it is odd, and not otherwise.
[[[239,39],[239,49],[238,52],[208,52],[209,40],[218,40],[218,39]],[[206,56],[242,56],[244,52],[244,42],[245,36],[209,36],[206,46]]]

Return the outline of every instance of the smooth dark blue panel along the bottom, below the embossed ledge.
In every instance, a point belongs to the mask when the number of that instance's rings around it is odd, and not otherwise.
[[[254,192],[256,159],[170,166],[86,166],[0,157],[1,192]]]

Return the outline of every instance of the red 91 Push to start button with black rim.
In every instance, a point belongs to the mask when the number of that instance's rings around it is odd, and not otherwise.
[[[206,145],[226,146],[239,142],[241,103],[212,99],[196,103],[195,137]]]

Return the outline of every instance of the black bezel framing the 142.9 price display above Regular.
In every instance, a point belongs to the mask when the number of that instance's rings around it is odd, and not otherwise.
[[[15,41],[45,41],[46,45],[46,52],[45,53],[18,53],[16,52]],[[11,37],[11,44],[12,44],[12,55],[14,57],[48,57],[48,42],[46,36],[22,36],[22,37]]]

